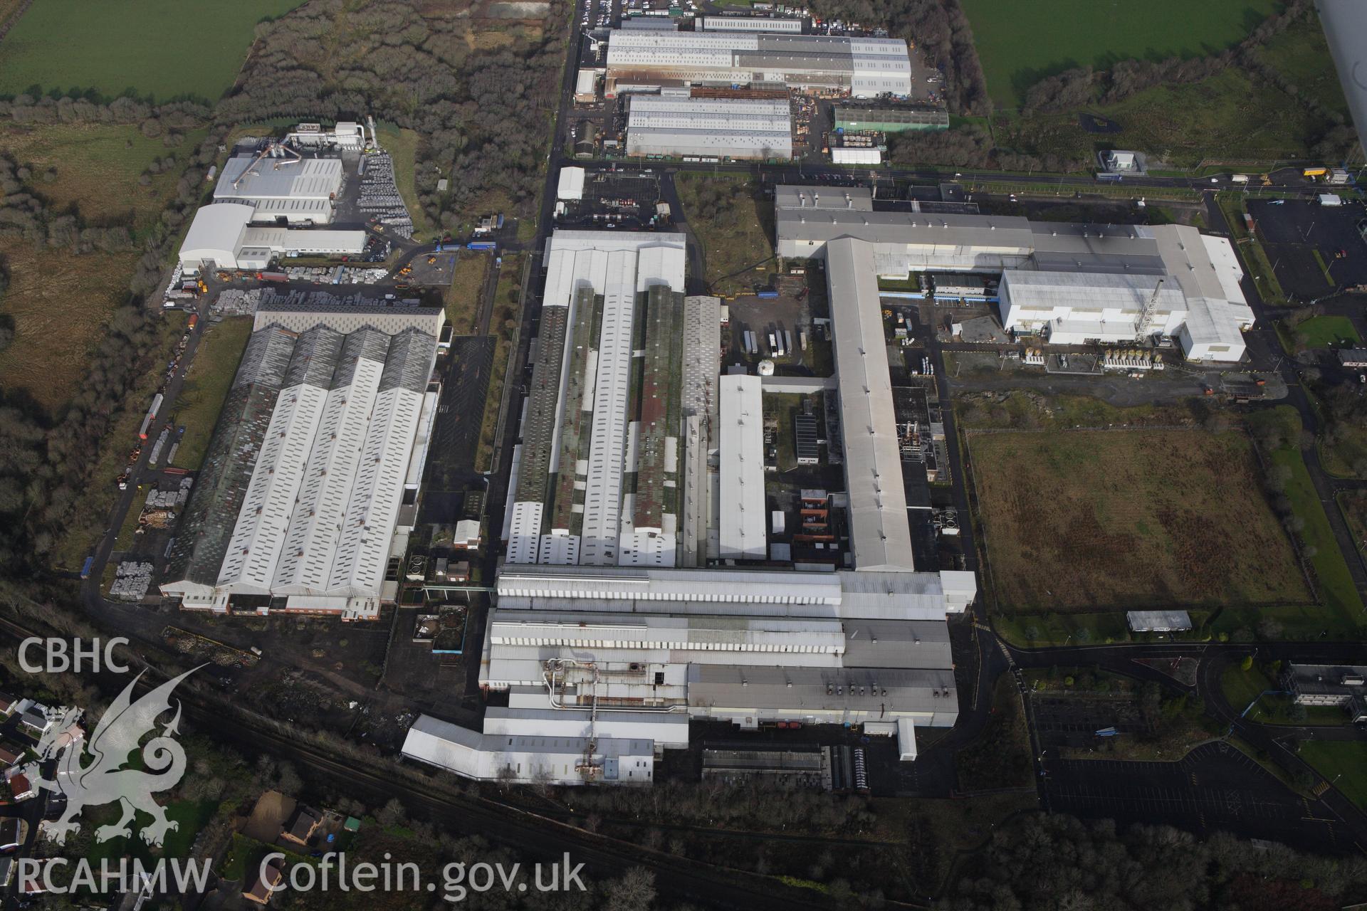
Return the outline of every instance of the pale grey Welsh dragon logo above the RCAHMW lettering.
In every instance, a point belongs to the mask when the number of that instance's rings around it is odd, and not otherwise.
[[[116,837],[130,837],[130,824],[137,813],[152,817],[152,825],[141,832],[142,840],[160,845],[167,832],[178,829],[179,824],[168,819],[165,810],[152,799],[159,791],[168,791],[185,776],[185,748],[175,742],[180,723],[180,702],[176,701],[175,717],[161,727],[161,732],[141,744],[141,768],[127,768],[133,753],[148,733],[153,733],[157,718],[171,710],[171,692],[198,668],[186,671],[167,680],[138,701],[133,699],[133,687],[139,673],[123,688],[123,692],[100,717],[89,742],[81,736],[81,709],[57,709],[52,713],[53,724],[38,740],[38,762],[29,763],[26,773],[34,787],[67,799],[66,810],[56,822],[49,824],[48,835],[57,844],[67,835],[79,832],[77,822],[86,807],[97,807],[118,802],[123,815],[118,822],[103,825],[94,832],[96,841]],[[82,762],[86,754],[89,762]],[[56,773],[52,779],[41,776],[41,765],[56,759]]]

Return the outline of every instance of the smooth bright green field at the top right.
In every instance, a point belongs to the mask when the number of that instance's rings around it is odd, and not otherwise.
[[[988,94],[1005,108],[1017,107],[1025,90],[1044,76],[1072,67],[1106,70],[1132,57],[1200,57],[1222,51],[1280,5],[1277,0],[1050,0],[1042,7],[962,0]]]

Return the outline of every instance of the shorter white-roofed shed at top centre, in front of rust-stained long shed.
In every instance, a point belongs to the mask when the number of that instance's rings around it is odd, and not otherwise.
[[[637,94],[627,101],[629,156],[791,158],[793,115],[783,98]]]

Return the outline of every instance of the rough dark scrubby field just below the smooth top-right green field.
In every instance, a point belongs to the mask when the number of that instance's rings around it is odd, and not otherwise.
[[[1255,85],[1237,68],[1187,85],[1158,86],[1118,104],[1091,105],[1088,111],[1121,126],[1118,132],[1091,134],[1077,124],[1074,112],[1036,113],[1021,117],[1009,112],[992,120],[998,143],[1059,154],[1094,168],[1096,149],[1139,149],[1159,161],[1191,168],[1207,157],[1233,161],[1273,161],[1307,154],[1307,137],[1322,122],[1285,92]]]

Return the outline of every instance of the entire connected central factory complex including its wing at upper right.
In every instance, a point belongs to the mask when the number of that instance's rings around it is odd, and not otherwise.
[[[764,385],[719,373],[719,302],[684,294],[682,236],[558,231],[480,658],[503,695],[483,731],[421,718],[406,755],[648,784],[690,720],[726,720],[860,724],[915,758],[916,727],[957,717],[946,616],[977,587],[917,565],[879,277],[991,276],[1005,326],[1050,343],[1172,337],[1237,361],[1252,321],[1229,242],[1193,228],[876,210],[809,186],[775,208],[779,255],[823,260],[838,302],[848,546],[826,565],[768,546]]]

